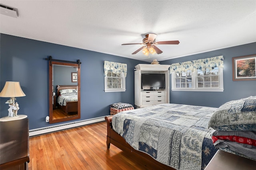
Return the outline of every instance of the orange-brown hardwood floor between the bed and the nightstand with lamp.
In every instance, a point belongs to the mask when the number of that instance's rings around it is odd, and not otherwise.
[[[106,122],[29,139],[28,170],[146,170],[114,145],[106,149]]]

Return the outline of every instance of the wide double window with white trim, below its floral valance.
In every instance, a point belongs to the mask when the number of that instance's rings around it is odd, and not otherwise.
[[[215,67],[213,70],[172,72],[172,90],[223,92],[223,69]]]

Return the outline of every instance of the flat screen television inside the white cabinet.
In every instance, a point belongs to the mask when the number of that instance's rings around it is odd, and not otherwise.
[[[158,90],[165,88],[165,74],[141,74],[141,88],[143,90]]]

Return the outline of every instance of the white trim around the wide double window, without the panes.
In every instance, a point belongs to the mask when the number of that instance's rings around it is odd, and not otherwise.
[[[192,88],[175,88],[176,72],[172,72],[172,91],[223,92],[223,68],[218,67],[219,88],[197,88],[196,71],[192,72]]]

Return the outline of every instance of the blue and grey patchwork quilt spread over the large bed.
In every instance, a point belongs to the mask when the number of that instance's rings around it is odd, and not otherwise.
[[[114,115],[113,130],[134,149],[177,170],[201,170],[217,149],[208,121],[217,108],[160,104]]]

